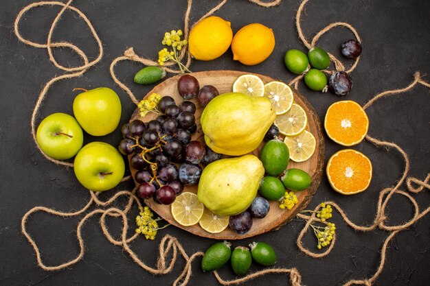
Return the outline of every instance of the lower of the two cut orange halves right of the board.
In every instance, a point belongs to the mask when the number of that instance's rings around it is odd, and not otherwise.
[[[367,189],[372,180],[372,163],[361,152],[346,149],[330,157],[327,177],[335,191],[353,195]]]

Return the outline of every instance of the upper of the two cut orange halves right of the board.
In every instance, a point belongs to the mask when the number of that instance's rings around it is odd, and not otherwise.
[[[343,146],[360,143],[369,129],[369,119],[357,102],[344,100],[332,104],[324,119],[327,135]]]

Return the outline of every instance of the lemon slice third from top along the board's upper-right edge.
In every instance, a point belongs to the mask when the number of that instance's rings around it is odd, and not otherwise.
[[[306,128],[308,117],[301,106],[293,104],[290,110],[283,115],[278,115],[274,123],[279,128],[281,134],[295,136]]]

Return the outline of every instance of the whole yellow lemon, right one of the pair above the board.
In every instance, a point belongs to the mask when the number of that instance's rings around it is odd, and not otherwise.
[[[275,48],[275,35],[272,29],[260,23],[242,27],[231,42],[233,60],[253,66],[266,60]]]

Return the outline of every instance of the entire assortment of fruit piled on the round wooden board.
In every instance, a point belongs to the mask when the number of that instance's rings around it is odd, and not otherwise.
[[[307,189],[311,178],[287,169],[288,162],[308,160],[316,142],[304,130],[306,112],[288,85],[242,75],[231,92],[219,95],[216,86],[201,87],[192,75],[182,75],[177,91],[177,102],[148,95],[140,105],[155,106],[147,109],[157,117],[148,120],[144,112],[122,127],[119,148],[129,155],[139,197],[170,205],[181,226],[199,224],[207,233],[229,227],[238,235],[267,216],[269,201],[279,201],[285,211],[297,204],[295,192]],[[197,122],[204,143],[191,139],[196,104],[190,99],[204,108]],[[262,142],[260,156],[250,154]],[[183,191],[194,184],[196,193]]]

